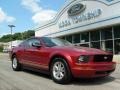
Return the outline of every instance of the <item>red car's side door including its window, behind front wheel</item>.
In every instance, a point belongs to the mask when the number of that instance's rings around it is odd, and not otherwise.
[[[25,61],[26,64],[32,67],[40,67],[42,65],[42,45],[41,47],[35,47],[33,44],[41,45],[39,39],[30,39],[27,42],[27,47],[25,48]]]

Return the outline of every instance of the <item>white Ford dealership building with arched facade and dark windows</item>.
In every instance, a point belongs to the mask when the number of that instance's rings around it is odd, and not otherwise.
[[[35,36],[59,37],[120,54],[120,0],[68,0]]]

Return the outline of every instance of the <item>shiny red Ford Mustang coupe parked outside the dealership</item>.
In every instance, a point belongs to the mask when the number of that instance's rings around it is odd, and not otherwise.
[[[72,77],[94,78],[110,75],[116,67],[113,55],[93,48],[73,46],[68,41],[33,37],[10,53],[12,68],[21,67],[48,72],[57,83],[68,83]]]

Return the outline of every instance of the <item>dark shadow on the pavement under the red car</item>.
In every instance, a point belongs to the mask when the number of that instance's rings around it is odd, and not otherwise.
[[[23,69],[22,70],[25,73],[29,73],[38,77],[47,78],[49,80],[51,79],[51,76],[45,73],[41,73],[38,71],[33,71],[29,69]],[[72,79],[72,82],[66,85],[82,85],[82,86],[92,86],[92,85],[102,85],[105,83],[113,82],[116,78],[112,76],[102,77],[102,78],[93,78],[93,79],[81,79],[81,78],[74,78]]]

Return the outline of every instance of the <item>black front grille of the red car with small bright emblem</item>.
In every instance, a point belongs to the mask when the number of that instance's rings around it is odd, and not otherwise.
[[[95,55],[94,62],[112,62],[113,55]]]

